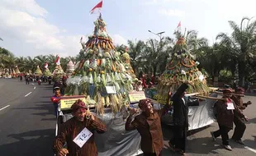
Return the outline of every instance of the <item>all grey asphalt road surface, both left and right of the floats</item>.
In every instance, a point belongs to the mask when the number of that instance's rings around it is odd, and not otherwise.
[[[36,86],[36,89],[34,87]],[[18,80],[0,79],[0,155],[2,156],[50,156],[55,135],[55,117],[49,98],[49,85],[25,85]],[[31,94],[29,94],[31,92]],[[244,101],[254,104],[244,113],[251,118],[244,134],[244,145],[230,141],[233,151],[222,149],[220,138],[213,142],[210,131],[216,123],[187,137],[187,154],[254,156],[256,155],[256,96],[247,96]],[[164,127],[164,156],[173,154],[168,149],[170,130]],[[230,131],[232,135],[233,131]],[[246,149],[247,148],[247,149]]]

